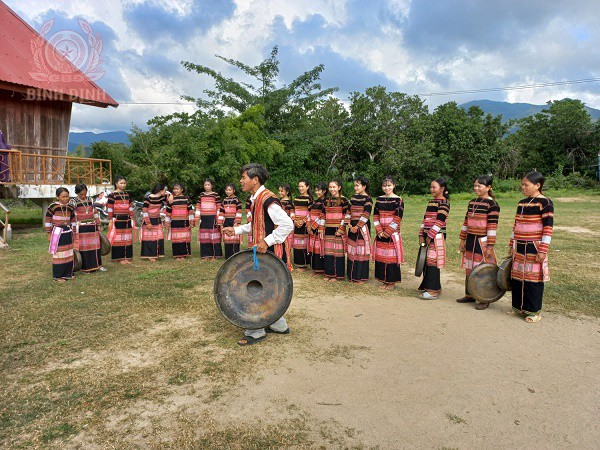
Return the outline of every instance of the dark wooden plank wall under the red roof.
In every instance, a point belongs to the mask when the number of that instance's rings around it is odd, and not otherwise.
[[[70,102],[27,100],[25,94],[0,89],[0,129],[15,150],[64,156],[71,107]]]

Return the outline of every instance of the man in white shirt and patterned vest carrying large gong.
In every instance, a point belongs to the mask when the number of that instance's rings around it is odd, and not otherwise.
[[[273,252],[286,262],[291,270],[291,254],[287,242],[288,235],[294,230],[294,222],[281,207],[275,194],[265,188],[269,172],[257,163],[246,164],[241,169],[240,184],[242,191],[250,193],[252,222],[236,227],[225,227],[223,233],[228,236],[247,234],[252,231],[258,253]],[[267,333],[288,334],[290,328],[285,317],[277,320],[268,328],[245,330],[238,345],[253,345],[267,337]]]

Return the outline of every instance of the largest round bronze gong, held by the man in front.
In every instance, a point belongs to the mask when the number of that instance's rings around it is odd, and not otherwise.
[[[215,277],[215,303],[241,328],[264,328],[279,320],[292,301],[292,274],[271,252],[244,250],[230,257]],[[257,267],[258,266],[258,267]],[[258,270],[255,270],[258,268]]]

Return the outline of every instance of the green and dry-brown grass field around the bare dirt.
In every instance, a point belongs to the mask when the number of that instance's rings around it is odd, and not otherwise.
[[[544,309],[600,317],[600,196],[573,192],[549,196],[555,204],[556,229]],[[470,197],[459,195],[451,202],[446,270],[456,273],[461,273],[458,231]],[[507,253],[519,198],[504,194],[498,199],[499,258]],[[416,255],[426,201],[424,196],[405,199],[402,229],[409,266]],[[239,447],[243,441],[244,448],[258,449],[319,443],[309,433],[315,427],[310,418],[223,425],[211,413],[253,365],[281,357],[276,348],[236,346],[240,330],[219,315],[212,299],[220,262],[200,262],[194,247],[196,255],[188,261],[175,262],[168,248],[167,258],[152,264],[137,257],[136,245],[130,267],[108,262],[107,273],[53,283],[43,230],[19,225],[31,224],[39,211],[11,214],[17,223],[14,239],[9,251],[0,251],[0,446],[85,447],[92,440],[99,447],[129,447],[137,431],[107,425],[111,418],[138,417],[144,414],[140,404],[160,404],[179,392],[199,397],[206,405],[204,415],[179,414],[167,423],[149,419],[147,434],[137,436],[149,447],[225,448]],[[370,286],[320,285],[318,292],[326,298],[327,289],[340,288]],[[300,337],[295,344],[298,351],[310,347],[302,339],[308,338]],[[346,357],[348,351],[337,349],[337,354]],[[92,358],[95,363],[89,364]],[[125,369],[116,370],[123,364]],[[127,364],[133,364],[132,370]],[[169,426],[175,430],[174,440],[164,438]],[[323,428],[320,436],[328,433]]]

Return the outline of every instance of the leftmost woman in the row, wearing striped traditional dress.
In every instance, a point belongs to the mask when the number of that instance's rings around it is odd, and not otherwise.
[[[75,212],[69,204],[69,191],[60,187],[56,190],[56,201],[46,211],[46,233],[52,255],[52,278],[65,282],[73,278],[73,228]]]

